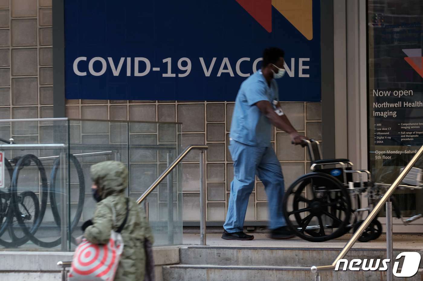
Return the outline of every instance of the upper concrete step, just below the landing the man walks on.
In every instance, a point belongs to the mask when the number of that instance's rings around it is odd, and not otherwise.
[[[330,265],[339,254],[339,248],[270,248],[270,247],[217,247],[185,246],[180,250],[184,265],[235,265],[235,266],[288,266],[307,267]],[[403,251],[395,249],[394,258]],[[384,249],[351,249],[346,259],[385,259]],[[420,260],[423,268],[423,260]]]

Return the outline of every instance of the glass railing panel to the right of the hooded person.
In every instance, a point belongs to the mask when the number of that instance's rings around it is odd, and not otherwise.
[[[179,131],[178,125],[174,123],[129,124],[131,197],[139,198],[176,158],[177,152],[180,151],[177,146],[180,142],[176,141]],[[148,203],[148,219],[155,246],[182,243],[179,170],[180,167],[175,168],[145,200]],[[172,181],[169,181],[169,177]],[[147,208],[145,204],[143,207]]]

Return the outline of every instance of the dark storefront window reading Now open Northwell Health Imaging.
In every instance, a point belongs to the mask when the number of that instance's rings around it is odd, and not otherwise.
[[[368,0],[369,166],[376,182],[392,183],[423,144],[422,22],[421,0]],[[415,167],[423,169],[421,158]],[[415,213],[420,193],[396,192],[404,216]]]

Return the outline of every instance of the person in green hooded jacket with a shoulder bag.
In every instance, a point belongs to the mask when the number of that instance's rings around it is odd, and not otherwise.
[[[111,230],[117,230],[126,216],[125,190],[128,187],[128,169],[121,162],[100,162],[91,166],[91,179],[93,197],[98,203],[93,218],[82,225],[82,230],[89,242],[107,244]],[[151,246],[153,235],[143,208],[132,199],[129,199],[128,208],[127,221],[121,232],[124,251],[115,280],[143,281],[146,274],[145,241]]]

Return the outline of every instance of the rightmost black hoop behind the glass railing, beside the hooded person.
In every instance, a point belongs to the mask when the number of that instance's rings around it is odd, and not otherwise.
[[[74,215],[74,218],[72,219],[72,222],[70,224],[70,233],[72,233],[75,228],[78,225],[78,222],[81,218],[82,215],[82,209],[84,208],[84,199],[85,199],[85,178],[84,178],[84,172],[82,170],[82,166],[80,164],[80,162],[78,161],[77,157],[75,157],[72,154],[69,154],[69,160],[73,163],[73,165],[76,168],[77,171],[77,176],[78,176],[78,181],[79,181],[79,196],[78,196],[78,204],[77,204],[77,211]],[[55,220],[55,223],[57,224],[57,226],[60,227],[61,225],[61,219],[60,219],[60,213],[58,210],[58,203],[56,200],[56,176],[57,176],[57,172],[60,168],[60,158],[56,159],[55,162],[53,163],[53,169],[50,173],[50,190],[49,190],[49,194],[50,194],[50,204],[51,204],[51,208],[52,208],[52,213],[53,213],[53,217]],[[73,239],[73,237],[71,238],[72,243],[75,244],[75,241]],[[60,243],[60,240],[59,240]]]

